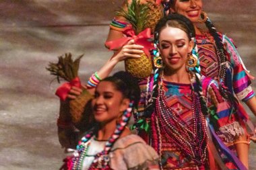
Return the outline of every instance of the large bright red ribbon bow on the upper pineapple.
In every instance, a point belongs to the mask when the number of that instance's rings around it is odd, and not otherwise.
[[[127,29],[123,32],[123,34],[125,34],[127,37],[108,41],[106,42],[106,46],[109,46],[110,50],[115,50],[127,44],[129,40],[134,40],[135,44],[143,46],[143,52],[145,52],[147,56],[150,56],[149,50],[154,48],[152,40],[150,40],[152,38],[150,28],[146,28],[136,36],[135,31],[131,28],[131,26],[127,26]]]

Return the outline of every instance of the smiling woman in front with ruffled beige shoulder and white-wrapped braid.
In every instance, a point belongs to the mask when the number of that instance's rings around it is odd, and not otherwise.
[[[61,169],[158,169],[156,151],[126,127],[139,94],[129,73],[100,81],[92,99],[93,127]]]

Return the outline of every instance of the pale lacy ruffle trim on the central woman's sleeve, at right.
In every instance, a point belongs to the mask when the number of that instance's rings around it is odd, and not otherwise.
[[[238,122],[233,122],[232,124],[227,124],[220,127],[220,138],[224,138],[225,142],[234,142],[235,137],[242,136],[245,134],[245,130]]]

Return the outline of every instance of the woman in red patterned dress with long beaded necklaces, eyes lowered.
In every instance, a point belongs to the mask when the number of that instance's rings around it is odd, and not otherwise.
[[[193,24],[183,15],[168,15],[156,25],[156,67],[139,83],[144,98],[135,127],[158,151],[161,169],[246,169],[220,139],[241,141],[241,110],[236,102],[230,107],[216,81],[200,76],[194,37]]]

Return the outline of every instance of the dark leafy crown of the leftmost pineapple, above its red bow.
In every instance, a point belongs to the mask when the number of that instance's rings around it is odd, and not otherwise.
[[[57,63],[49,62],[47,71],[50,71],[51,75],[57,76],[57,81],[60,83],[60,78],[66,81],[71,81],[75,79],[78,75],[79,63],[84,54],[78,56],[73,60],[70,52],[59,56],[59,61]]]

